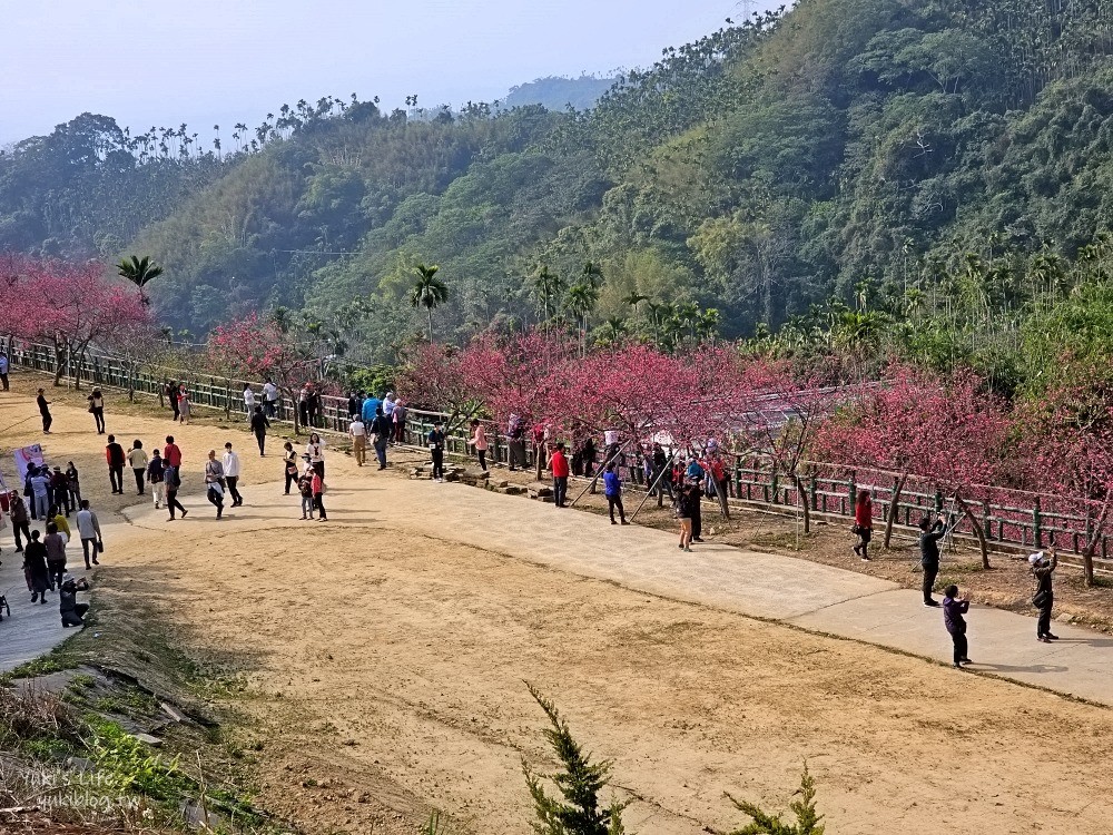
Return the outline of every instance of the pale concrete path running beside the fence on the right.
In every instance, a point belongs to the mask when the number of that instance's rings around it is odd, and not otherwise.
[[[672,599],[781,621],[949,664],[940,609],[919,592],[855,571],[716,544],[677,548],[677,537],[521,497],[410,481],[391,484],[405,527]],[[405,497],[398,493],[406,494]],[[446,501],[437,501],[443,493]],[[451,495],[451,499],[449,497]],[[414,512],[414,511],[417,512]],[[401,525],[400,525],[401,527]],[[1034,613],[1034,612],[1033,612]],[[1113,638],[1055,623],[1036,640],[1034,617],[972,607],[973,669],[1113,706]],[[962,675],[947,670],[945,675]]]

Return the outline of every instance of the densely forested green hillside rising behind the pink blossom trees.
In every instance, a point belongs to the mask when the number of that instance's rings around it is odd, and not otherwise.
[[[205,153],[82,117],[0,158],[0,246],[149,254],[178,327],[304,306],[367,360],[421,334],[417,263],[442,338],[889,322],[954,360],[1104,275],[1111,90],[1100,0],[800,0],[583,112],[326,98]]]

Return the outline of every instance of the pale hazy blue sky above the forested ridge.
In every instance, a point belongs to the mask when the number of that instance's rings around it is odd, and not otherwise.
[[[323,95],[491,101],[647,66],[741,14],[737,0],[0,0],[0,144],[87,110],[206,139]]]

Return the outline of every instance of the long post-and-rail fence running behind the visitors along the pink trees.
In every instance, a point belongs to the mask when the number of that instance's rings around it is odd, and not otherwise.
[[[9,343],[11,344],[11,343]],[[9,354],[13,367],[27,369],[43,374],[56,373],[53,350],[48,345],[11,345]],[[66,377],[76,369],[68,367]],[[130,390],[158,396],[164,384],[169,381],[183,382],[191,395],[194,406],[214,409],[226,413],[244,412],[243,391],[249,382],[259,399],[262,385],[258,381],[219,377],[180,369],[134,366],[118,357],[90,355],[80,369],[80,377],[92,385]],[[293,423],[294,404],[280,397],[276,419]],[[436,420],[449,415],[440,412],[407,410],[404,440],[415,446],[424,446],[424,439]],[[346,432],[349,423],[348,402],[345,397],[323,396],[322,413],[315,429],[326,432]],[[487,458],[493,464],[509,464],[511,444],[506,434],[493,421],[483,421],[490,449]],[[452,426],[447,432],[446,449],[450,453],[469,454],[466,425]],[[519,451],[520,463],[525,469],[535,469],[536,452],[526,440]],[[619,462],[619,468],[628,484],[647,487],[646,470],[640,454],[629,452]],[[900,499],[893,508],[897,477],[868,468],[848,468],[833,464],[815,464],[805,468],[806,501],[816,513],[851,518],[855,495],[858,490],[869,490],[874,500],[874,513],[878,522],[896,512],[895,523],[914,527],[925,513],[953,510],[952,499],[940,492],[929,480],[912,475],[900,492]],[[798,507],[799,497],[794,481],[778,473],[768,459],[755,455],[732,455],[731,498],[770,508],[791,509]],[[1061,552],[1081,553],[1093,537],[1094,514],[1090,508],[1080,508],[1061,497],[1035,494],[1023,491],[981,487],[964,497],[974,512],[976,523],[991,547],[1040,549],[1055,546]],[[955,533],[973,537],[969,519],[964,518]],[[1101,560],[1109,558],[1109,538],[1103,536],[1097,554]]]

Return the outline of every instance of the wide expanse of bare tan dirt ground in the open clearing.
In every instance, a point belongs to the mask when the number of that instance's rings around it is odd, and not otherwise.
[[[17,387],[0,395],[0,426],[33,413],[31,381]],[[336,451],[329,521],[302,522],[274,483],[280,443],[259,459],[242,424],[171,428],[112,397],[109,431],[178,438],[184,495],[205,451],[229,439],[242,451],[242,512],[218,523],[187,495],[189,518],[165,522],[108,495],[91,424],[56,404],[47,451],[83,468],[101,512],[135,520],[107,543],[100,593],[160,613],[214,706],[245,717],[260,803],[308,832],[415,833],[431,808],[453,832],[528,832],[521,762],[552,762],[523,680],[613,760],[630,831],[729,831],[745,817],[727,792],[785,808],[805,760],[833,835],[1113,831],[1113,711],[423,533],[472,488],[361,471]],[[0,436],[39,441],[37,429]],[[520,504],[474,525],[551,512]]]

